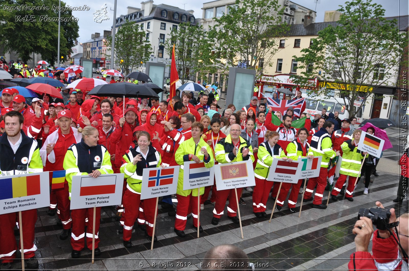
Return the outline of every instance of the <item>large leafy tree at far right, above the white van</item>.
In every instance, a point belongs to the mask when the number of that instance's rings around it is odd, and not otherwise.
[[[301,57],[293,56],[297,68],[306,69],[294,80],[301,85],[315,77],[331,82],[353,116],[374,89],[396,85],[407,33],[399,33],[397,20],[384,18],[385,10],[371,0],[346,2],[338,11],[342,16],[337,25],[319,31],[312,45],[301,50]],[[327,96],[329,91],[324,88],[316,93]],[[355,110],[358,97],[364,102]]]

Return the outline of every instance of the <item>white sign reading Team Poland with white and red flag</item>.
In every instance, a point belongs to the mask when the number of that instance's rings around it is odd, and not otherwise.
[[[122,202],[124,173],[72,177],[71,209],[118,205]]]

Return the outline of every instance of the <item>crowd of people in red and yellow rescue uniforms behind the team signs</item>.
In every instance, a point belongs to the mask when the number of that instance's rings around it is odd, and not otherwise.
[[[357,149],[362,130],[353,126],[354,117],[337,120],[333,113],[327,116],[323,109],[322,115],[315,115],[314,120],[308,113],[301,114],[305,124],[302,128],[294,128],[292,122],[296,117],[291,107],[283,115],[255,96],[242,109],[229,104],[220,112],[218,99],[215,96],[209,98],[206,93],[200,93],[197,100],[191,93],[182,93],[181,97],[173,96],[168,100],[101,98],[68,86],[61,90],[61,94],[63,99],[45,95],[43,99],[33,99],[29,105],[17,89],[3,90],[0,159],[3,161],[12,156],[15,159],[10,164],[1,163],[0,170],[3,175],[65,170],[64,187],[51,189],[47,213],[51,216],[57,213],[57,223],[63,227],[59,237],[62,240],[71,238],[73,258],[81,255],[85,243],[88,249],[92,249],[93,231],[93,208],[70,210],[74,175],[97,178],[101,174],[124,173],[122,205],[117,206],[117,214],[121,222],[119,233],[123,233],[124,247],[127,248],[132,247],[130,239],[135,222],[145,230],[149,240],[153,236],[155,203],[140,199],[142,172],[146,167],[180,165],[177,193],[162,198],[162,207],[170,216],[175,216],[174,231],[180,237],[185,236],[190,217],[193,217],[193,229],[202,231],[195,208],[199,200],[200,210],[204,209],[207,200],[214,204],[211,220],[214,225],[224,215],[228,200],[227,217],[239,223],[234,189],[218,191],[214,179],[211,186],[203,187],[199,192],[197,189],[183,190],[183,164],[187,161],[203,161],[209,168],[217,163],[251,160],[256,185],[245,189],[253,192],[253,212],[258,218],[267,216],[269,197],[276,200],[277,210],[283,208],[288,198],[290,211],[297,211],[303,180],[283,184],[278,193],[280,183],[266,180],[274,158],[291,162],[301,157],[322,157],[319,177],[308,180],[304,194],[304,201],[313,200],[313,208],[327,208],[322,199],[327,184],[332,187],[334,172],[331,169],[335,167],[337,156],[342,156],[343,160],[331,199],[337,201],[337,195],[344,194],[348,178],[345,198],[353,201],[363,159],[366,161],[362,170],[366,173],[364,193],[368,193],[375,159]],[[280,125],[272,123],[273,114],[281,121]],[[339,129],[334,129],[339,122]],[[245,205],[242,192],[237,189],[237,200]],[[398,196],[396,200],[402,202],[402,197]],[[34,258],[36,212],[36,209],[22,212],[26,224],[24,254],[29,267],[34,268],[38,266]],[[100,217],[99,207],[95,218],[95,255],[101,253],[98,248]],[[13,229],[18,219],[16,213],[0,215],[0,218],[0,255],[2,267],[7,268],[16,257],[18,245]],[[153,239],[156,241],[156,237]]]

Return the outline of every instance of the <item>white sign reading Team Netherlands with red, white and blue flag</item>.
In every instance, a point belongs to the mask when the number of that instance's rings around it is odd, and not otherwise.
[[[194,161],[184,162],[183,167],[183,190],[213,185],[213,167],[206,168],[203,161],[199,164]]]

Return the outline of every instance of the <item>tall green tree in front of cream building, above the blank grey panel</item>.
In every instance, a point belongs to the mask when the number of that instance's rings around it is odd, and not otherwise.
[[[238,66],[261,75],[279,50],[280,37],[289,30],[282,22],[283,10],[278,0],[236,0],[227,14],[215,18],[209,40],[214,40],[212,54],[218,69]]]

